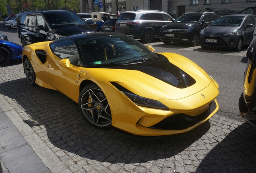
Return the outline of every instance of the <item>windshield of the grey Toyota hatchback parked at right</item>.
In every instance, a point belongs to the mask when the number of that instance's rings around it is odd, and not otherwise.
[[[243,16],[222,16],[215,20],[211,26],[240,26]]]

